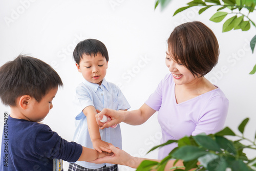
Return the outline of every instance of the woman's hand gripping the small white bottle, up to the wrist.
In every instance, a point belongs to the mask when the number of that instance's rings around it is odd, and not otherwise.
[[[111,121],[102,123],[100,120],[102,119],[103,115],[107,115],[111,117]],[[121,123],[125,119],[125,111],[115,111],[112,109],[104,108],[101,112],[96,115],[96,121],[99,125],[99,128],[103,130],[105,127],[110,127],[112,125]]]

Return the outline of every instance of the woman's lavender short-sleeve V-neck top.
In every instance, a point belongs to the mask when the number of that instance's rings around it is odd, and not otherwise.
[[[178,140],[184,136],[220,131],[223,129],[229,105],[220,88],[177,104],[175,82],[171,73],[162,79],[145,103],[158,111],[162,130],[161,143]],[[173,143],[161,147],[158,158],[163,159],[176,146],[177,144]]]

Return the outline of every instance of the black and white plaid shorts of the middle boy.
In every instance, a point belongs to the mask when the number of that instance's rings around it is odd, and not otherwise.
[[[75,163],[70,163],[68,171],[118,171],[118,165],[115,164],[109,167],[106,167],[106,165],[104,165],[101,168],[92,169],[92,168],[82,167]]]

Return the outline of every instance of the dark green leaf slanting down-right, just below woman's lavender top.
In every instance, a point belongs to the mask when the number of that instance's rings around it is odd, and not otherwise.
[[[222,152],[217,142],[206,135],[197,135],[197,136],[194,136],[193,138],[199,145],[203,146],[206,149],[209,149],[215,152],[220,152],[220,153]]]

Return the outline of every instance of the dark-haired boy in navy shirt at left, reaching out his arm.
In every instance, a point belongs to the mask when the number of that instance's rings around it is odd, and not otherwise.
[[[38,123],[52,109],[59,86],[56,71],[33,57],[19,55],[0,68],[0,98],[11,108],[4,123],[0,170],[63,170],[63,160],[92,161],[109,155],[68,142]]]

